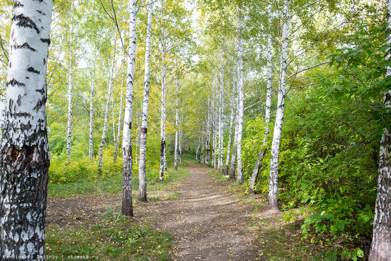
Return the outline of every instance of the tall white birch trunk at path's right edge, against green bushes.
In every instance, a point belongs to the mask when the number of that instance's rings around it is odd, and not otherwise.
[[[273,141],[271,147],[270,176],[269,176],[269,201],[268,210],[279,211],[278,208],[278,154],[280,150],[280,140],[282,132],[282,123],[284,118],[285,106],[285,88],[286,88],[286,69],[288,58],[288,36],[289,36],[289,6],[288,0],[285,0],[283,18],[284,26],[281,36],[281,65],[280,65],[280,87],[278,89],[276,123],[274,124]]]

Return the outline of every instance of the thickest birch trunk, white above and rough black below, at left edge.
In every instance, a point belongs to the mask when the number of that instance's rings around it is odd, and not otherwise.
[[[46,71],[53,1],[20,0],[11,24],[0,148],[0,259],[45,260]]]

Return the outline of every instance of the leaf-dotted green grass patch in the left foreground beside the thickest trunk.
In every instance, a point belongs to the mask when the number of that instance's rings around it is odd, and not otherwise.
[[[173,236],[132,218],[108,211],[97,225],[46,228],[46,254],[64,260],[70,256],[97,256],[93,260],[168,260]]]

